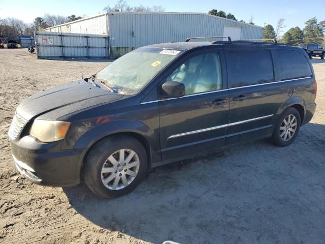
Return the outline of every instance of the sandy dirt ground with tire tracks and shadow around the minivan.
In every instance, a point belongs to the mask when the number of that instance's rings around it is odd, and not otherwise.
[[[38,60],[26,49],[0,49],[0,58],[0,242],[324,243],[324,60],[312,60],[315,116],[290,146],[263,140],[162,166],[133,193],[102,200],[84,184],[50,188],[21,177],[7,133],[23,99],[107,63]]]

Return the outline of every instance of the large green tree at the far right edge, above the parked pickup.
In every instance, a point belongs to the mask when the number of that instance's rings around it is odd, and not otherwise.
[[[322,23],[322,21],[320,22]],[[317,23],[317,18],[313,17],[305,22],[306,26],[303,29],[305,43],[322,43],[321,37],[324,36],[321,24]]]

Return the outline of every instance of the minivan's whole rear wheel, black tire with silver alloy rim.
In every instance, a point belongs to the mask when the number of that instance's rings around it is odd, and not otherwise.
[[[288,117],[290,116],[290,117]],[[293,116],[295,116],[296,120],[293,121],[293,124],[286,126],[284,124],[284,119],[286,119],[286,121],[288,119],[293,119]],[[292,126],[295,125],[296,122],[296,126]],[[278,118],[278,121],[276,123],[276,126],[274,128],[274,132],[272,135],[272,141],[276,146],[287,146],[290,145],[291,143],[293,143],[293,141],[296,139],[298,133],[299,133],[299,129],[300,129],[300,123],[301,123],[301,117],[300,117],[300,113],[298,112],[297,109],[290,107],[288,109],[286,109]],[[284,129],[286,128],[286,129]],[[284,130],[283,130],[284,129]],[[292,129],[292,130],[290,130]],[[287,130],[289,134],[287,134]],[[295,132],[293,133],[293,130],[295,130]],[[287,136],[285,137],[285,134],[287,134]],[[292,134],[293,133],[293,134]],[[281,137],[282,135],[282,137]],[[289,138],[289,136],[291,136],[291,138]]]

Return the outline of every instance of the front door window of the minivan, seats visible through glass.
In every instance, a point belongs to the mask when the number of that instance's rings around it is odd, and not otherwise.
[[[217,53],[200,54],[187,59],[167,78],[185,86],[185,95],[222,89],[221,65]]]

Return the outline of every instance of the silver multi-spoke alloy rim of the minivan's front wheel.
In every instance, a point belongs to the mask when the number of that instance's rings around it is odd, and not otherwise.
[[[139,166],[140,160],[134,150],[124,148],[115,151],[102,167],[102,182],[110,190],[121,190],[136,178]]]

